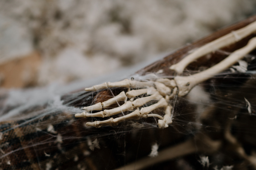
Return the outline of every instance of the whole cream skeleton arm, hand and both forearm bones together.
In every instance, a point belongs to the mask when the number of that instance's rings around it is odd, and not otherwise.
[[[185,67],[189,65],[189,63],[206,54],[211,53],[212,51],[233,44],[238,40],[251,35],[255,31],[256,22],[253,22],[239,30],[232,31],[229,34],[226,34],[225,36],[222,36],[221,38],[218,38],[193,51],[193,53],[189,54],[180,62],[170,66],[170,69],[175,70],[178,74],[181,74]],[[127,115],[117,117],[115,119],[110,118],[103,121],[87,122],[86,125],[94,127],[102,127],[104,125],[115,126],[125,120],[135,120],[141,117],[157,117],[159,119],[159,128],[168,127],[168,125],[172,123],[172,105],[169,103],[170,99],[172,99],[176,94],[180,97],[185,96],[194,86],[228,69],[230,66],[244,58],[246,54],[250,53],[255,48],[256,38],[252,38],[249,40],[246,46],[234,51],[218,64],[191,76],[176,76],[172,80],[168,78],[157,78],[151,81],[136,81],[125,79],[119,82],[105,82],[100,85],[92,86],[91,88],[86,88],[86,91],[97,91],[102,89],[121,87],[127,88],[128,92],[125,93],[122,91],[120,94],[110,98],[107,101],[84,107],[83,109],[85,111],[83,113],[77,113],[75,117],[109,117],[119,113],[131,112]],[[138,97],[142,94],[147,96],[134,100],[135,97]],[[146,103],[154,100],[158,102],[148,107],[139,109]],[[116,104],[120,101],[124,101],[124,104],[113,109],[106,109],[110,105]],[[158,108],[162,108],[164,110],[164,116],[151,113]],[[99,112],[89,113],[91,111]]]

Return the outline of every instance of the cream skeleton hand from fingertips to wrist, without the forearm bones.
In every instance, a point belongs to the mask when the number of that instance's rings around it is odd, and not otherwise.
[[[89,107],[84,107],[85,110],[83,113],[77,113],[76,117],[107,117],[117,115],[119,113],[131,112],[125,116],[121,116],[118,118],[110,118],[108,120],[103,121],[94,121],[87,122],[87,126],[101,127],[103,125],[118,125],[118,123],[130,120],[130,119],[139,119],[140,117],[158,117],[158,126],[159,128],[168,127],[168,124],[172,123],[172,115],[171,109],[172,106],[169,105],[170,98],[173,98],[177,93],[177,87],[174,80],[169,79],[158,79],[156,81],[135,81],[125,79],[119,82],[108,82],[101,85],[96,85],[91,88],[86,88],[86,91],[96,91],[100,89],[107,89],[113,87],[123,87],[123,88],[132,88],[135,90],[128,90],[128,92],[122,91],[117,96],[110,98],[107,101],[102,103],[97,103],[95,105],[91,105]],[[146,97],[137,98],[135,97],[146,95]],[[112,104],[116,104],[120,101],[124,101],[124,104],[120,107],[113,109],[105,109]],[[157,103],[150,105],[148,107],[142,107],[148,102],[158,101]],[[158,114],[150,113],[157,108],[163,108],[165,110],[165,116],[161,116]],[[90,111],[98,110],[100,112],[97,113],[88,113]],[[101,111],[103,110],[103,111]]]

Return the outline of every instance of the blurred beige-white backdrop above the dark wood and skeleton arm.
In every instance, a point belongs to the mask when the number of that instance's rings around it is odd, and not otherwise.
[[[36,76],[22,73],[34,86],[94,78],[255,12],[255,0],[1,0],[0,65],[36,53]]]

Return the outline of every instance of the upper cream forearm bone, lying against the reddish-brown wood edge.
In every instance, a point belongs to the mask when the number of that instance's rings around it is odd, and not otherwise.
[[[181,74],[183,72],[183,70],[185,69],[185,67],[187,67],[189,65],[189,63],[195,61],[196,59],[202,57],[203,55],[211,53],[212,51],[215,51],[217,49],[220,49],[222,47],[225,47],[232,43],[237,42],[237,37],[240,37],[240,39],[242,39],[242,38],[245,38],[246,36],[252,34],[255,31],[256,31],[256,22],[253,22],[253,23],[249,24],[248,26],[240,28],[239,30],[232,31],[231,33],[226,34],[226,35],[222,36],[221,38],[218,38],[210,43],[207,43],[206,45],[193,51],[193,53],[191,53],[187,57],[183,58],[177,64],[170,66],[170,69],[175,70],[178,74]],[[236,36],[234,36],[234,35],[236,35]]]

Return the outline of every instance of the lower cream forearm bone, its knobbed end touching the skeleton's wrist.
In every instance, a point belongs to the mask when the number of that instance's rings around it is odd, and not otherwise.
[[[197,84],[215,76],[218,73],[223,72],[228,67],[234,65],[238,60],[244,58],[244,56],[250,53],[256,48],[256,38],[249,40],[248,44],[241,49],[234,51],[227,58],[223,59],[218,64],[204,70],[203,72],[193,74],[187,77],[176,76],[174,80],[179,88],[179,96],[185,96],[188,92]]]

